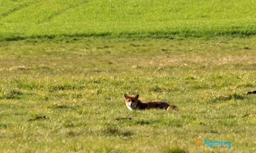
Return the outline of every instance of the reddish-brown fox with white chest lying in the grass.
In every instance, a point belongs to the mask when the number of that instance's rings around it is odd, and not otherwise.
[[[178,107],[175,105],[169,105],[168,103],[166,103],[165,101],[147,101],[147,102],[142,102],[140,101],[139,98],[139,94],[136,95],[130,95],[128,96],[127,94],[124,94],[125,97],[125,102],[126,105],[128,107],[129,110],[145,110],[145,109],[152,109],[152,108],[156,108],[156,109],[166,109],[166,110],[177,110]]]

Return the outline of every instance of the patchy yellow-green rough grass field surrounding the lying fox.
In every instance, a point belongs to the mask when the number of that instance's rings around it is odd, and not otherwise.
[[[0,42],[0,152],[254,152],[256,96],[246,95],[256,89],[254,42]],[[124,93],[179,111],[129,111]]]

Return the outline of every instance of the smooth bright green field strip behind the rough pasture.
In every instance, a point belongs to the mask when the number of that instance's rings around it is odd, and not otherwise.
[[[252,0],[2,3],[0,40],[60,36],[247,37],[256,31],[256,5]]]

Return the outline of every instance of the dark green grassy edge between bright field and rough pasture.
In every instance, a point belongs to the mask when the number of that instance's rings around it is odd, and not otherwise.
[[[149,32],[128,32],[128,33],[111,33],[111,32],[100,32],[100,33],[73,33],[73,34],[42,34],[42,35],[11,35],[1,36],[0,42],[3,41],[18,41],[25,39],[55,39],[55,38],[74,38],[74,37],[109,37],[109,38],[200,38],[200,37],[250,37],[255,36],[256,31],[203,31],[198,32],[197,30],[184,30],[184,31],[149,31]]]

